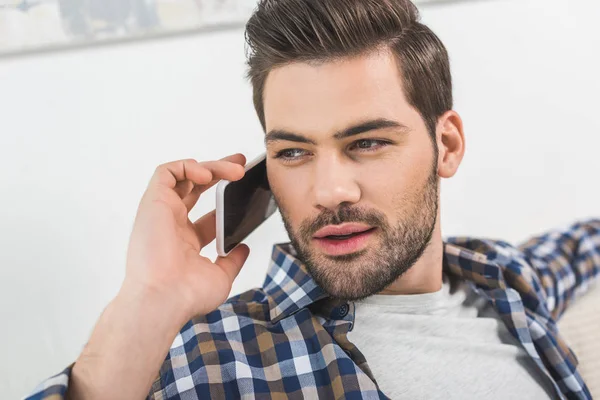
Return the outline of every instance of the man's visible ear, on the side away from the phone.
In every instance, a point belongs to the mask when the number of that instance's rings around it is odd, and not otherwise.
[[[451,178],[465,154],[462,119],[456,111],[447,111],[438,118],[436,138],[439,149],[438,175]]]

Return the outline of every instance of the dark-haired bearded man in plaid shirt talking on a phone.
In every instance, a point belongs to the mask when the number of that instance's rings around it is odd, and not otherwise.
[[[600,221],[519,248],[442,241],[439,180],[465,141],[416,8],[263,0],[247,39],[291,244],[263,288],[222,304],[249,250],[200,256],[214,213],[188,212],[245,160],[160,166],[119,294],[31,398],[591,398],[556,321],[600,273]]]

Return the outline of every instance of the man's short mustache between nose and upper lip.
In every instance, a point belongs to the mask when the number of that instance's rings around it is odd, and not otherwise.
[[[315,232],[327,225],[340,225],[345,222],[364,223],[369,226],[386,227],[385,215],[379,211],[355,207],[339,207],[337,210],[323,210],[314,220],[304,221],[299,228],[301,237],[312,237]]]

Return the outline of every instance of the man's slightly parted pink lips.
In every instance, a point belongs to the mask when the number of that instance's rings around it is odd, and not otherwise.
[[[376,227],[357,223],[329,225],[318,230],[313,239],[327,255],[352,254],[366,247],[376,229]]]

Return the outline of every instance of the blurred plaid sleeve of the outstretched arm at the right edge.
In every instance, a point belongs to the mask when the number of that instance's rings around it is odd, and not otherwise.
[[[557,320],[600,275],[600,219],[548,232],[519,247],[538,273]]]

